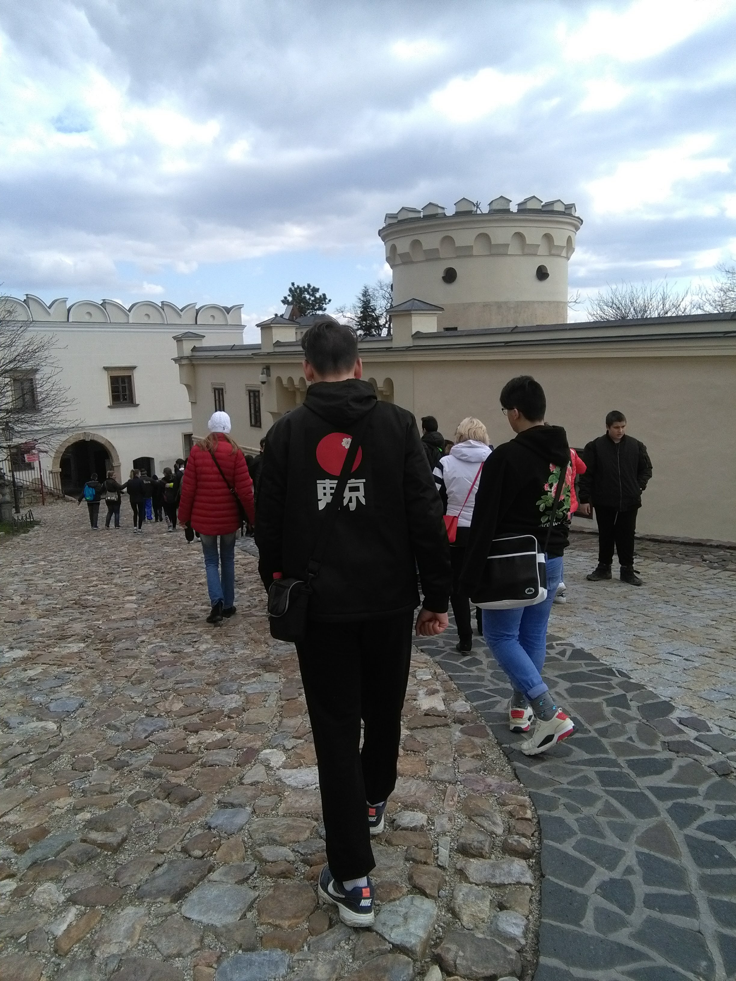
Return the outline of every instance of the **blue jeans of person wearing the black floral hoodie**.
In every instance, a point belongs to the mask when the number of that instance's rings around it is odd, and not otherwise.
[[[547,599],[536,606],[484,610],[483,636],[509,681],[527,698],[549,691],[542,680],[547,653],[547,623],[562,579],[562,558],[547,559]]]

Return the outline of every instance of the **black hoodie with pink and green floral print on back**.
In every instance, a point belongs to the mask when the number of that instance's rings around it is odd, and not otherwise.
[[[478,585],[494,539],[534,535],[544,547],[548,531],[550,558],[567,546],[570,487],[560,496],[554,524],[550,518],[560,472],[570,459],[567,435],[561,426],[534,426],[501,443],[483,466],[475,496],[473,521],[465,549],[460,582],[471,594]]]

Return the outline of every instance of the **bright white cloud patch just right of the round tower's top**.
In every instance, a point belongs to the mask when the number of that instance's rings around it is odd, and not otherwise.
[[[618,164],[609,177],[589,181],[586,188],[596,211],[602,215],[646,211],[650,205],[672,198],[675,185],[681,181],[697,181],[707,174],[727,174],[727,159],[701,156],[712,142],[708,135],[686,136],[672,146]],[[680,210],[682,204],[678,201]],[[702,213],[700,199],[692,201],[690,210]]]

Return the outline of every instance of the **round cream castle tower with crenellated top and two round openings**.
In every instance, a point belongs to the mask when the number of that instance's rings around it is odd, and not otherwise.
[[[394,306],[443,307],[438,329],[473,330],[567,321],[567,260],[583,220],[574,204],[507,197],[488,212],[460,198],[454,214],[429,203],[388,214],[379,231],[394,273]]]

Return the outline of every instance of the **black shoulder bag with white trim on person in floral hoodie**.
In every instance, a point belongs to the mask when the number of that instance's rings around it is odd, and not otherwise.
[[[552,526],[567,480],[569,464],[568,459],[559,468],[544,546],[540,548],[539,539],[534,535],[509,535],[494,539],[481,581],[470,594],[470,599],[476,606],[484,610],[518,609],[520,606],[536,606],[547,599],[545,553],[550,544]]]

